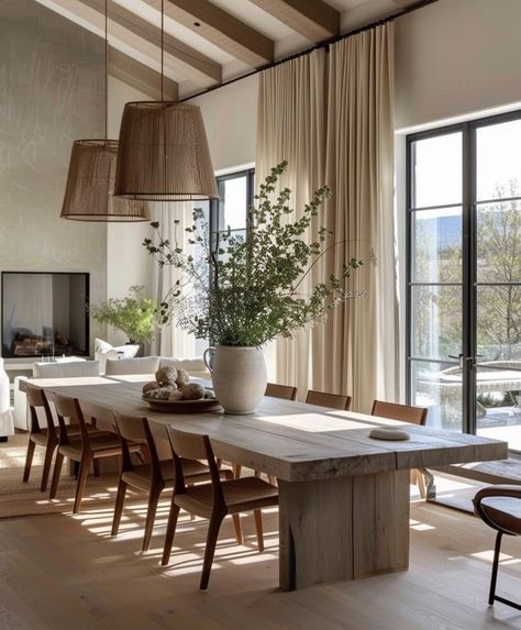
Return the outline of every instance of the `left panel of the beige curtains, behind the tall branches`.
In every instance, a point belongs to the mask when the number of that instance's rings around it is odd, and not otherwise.
[[[259,78],[256,180],[263,181],[273,166],[288,161],[279,184],[292,191],[297,217],[314,190],[324,185],[325,57],[326,52],[318,49],[269,68]],[[311,369],[309,331],[299,331],[291,340],[277,340],[268,354],[274,350],[277,380],[306,389]]]

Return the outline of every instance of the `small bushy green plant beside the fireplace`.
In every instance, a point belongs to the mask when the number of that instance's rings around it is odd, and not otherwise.
[[[131,343],[152,341],[160,320],[160,307],[157,300],[145,298],[143,291],[144,287],[133,286],[125,298],[110,298],[91,307],[90,314],[123,331]]]

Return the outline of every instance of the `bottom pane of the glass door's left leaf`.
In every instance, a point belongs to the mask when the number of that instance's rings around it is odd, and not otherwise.
[[[462,371],[457,365],[413,361],[411,404],[426,407],[426,425],[462,431]]]

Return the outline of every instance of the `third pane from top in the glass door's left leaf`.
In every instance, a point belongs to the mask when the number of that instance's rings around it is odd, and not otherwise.
[[[462,352],[462,287],[412,287],[412,355],[446,360]]]

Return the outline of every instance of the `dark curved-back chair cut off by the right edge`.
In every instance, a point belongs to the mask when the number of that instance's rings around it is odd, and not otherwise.
[[[501,485],[481,488],[476,493],[473,502],[476,515],[498,532],[494,549],[488,604],[494,606],[495,601],[501,601],[501,604],[521,610],[521,606],[516,601],[496,595],[501,539],[503,534],[521,535],[521,487]]]

